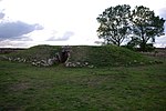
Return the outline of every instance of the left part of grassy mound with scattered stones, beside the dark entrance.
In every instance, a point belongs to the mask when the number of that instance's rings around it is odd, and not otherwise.
[[[60,46],[35,46],[1,56],[0,59],[30,63],[35,67],[50,67],[58,64],[56,56],[60,50],[62,50]]]

